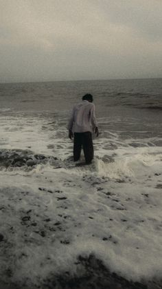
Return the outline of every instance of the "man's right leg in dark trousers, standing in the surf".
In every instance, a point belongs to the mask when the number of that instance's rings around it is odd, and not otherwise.
[[[91,132],[83,132],[82,134],[82,146],[84,150],[84,157],[86,163],[91,163],[93,159],[93,141]]]

